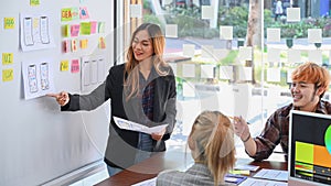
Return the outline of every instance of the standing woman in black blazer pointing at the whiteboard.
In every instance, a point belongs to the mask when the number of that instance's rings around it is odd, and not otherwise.
[[[88,95],[62,91],[55,97],[62,111],[94,110],[110,99],[111,120],[105,154],[109,176],[166,151],[175,123],[175,80],[163,61],[166,45],[161,29],[141,24],[132,34],[127,63],[113,66],[106,80]],[[160,133],[146,134],[119,129],[114,117],[147,127],[169,124]]]

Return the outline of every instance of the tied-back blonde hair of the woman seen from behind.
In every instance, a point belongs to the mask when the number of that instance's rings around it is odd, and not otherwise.
[[[235,164],[234,130],[229,119],[220,111],[203,111],[192,125],[190,139],[199,151],[194,160],[207,165],[214,185],[224,182],[225,174]]]

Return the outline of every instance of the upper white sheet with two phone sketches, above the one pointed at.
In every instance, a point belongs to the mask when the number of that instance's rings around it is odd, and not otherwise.
[[[23,52],[54,47],[46,14],[20,14],[20,45]]]

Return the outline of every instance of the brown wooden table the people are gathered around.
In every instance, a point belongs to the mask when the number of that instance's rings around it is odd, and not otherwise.
[[[258,165],[260,168],[287,169],[286,162],[263,161],[254,162],[248,158],[237,160],[239,164]],[[190,153],[168,151],[158,153],[150,158],[129,167],[100,183],[96,186],[128,186],[146,179],[156,177],[163,169],[185,171],[193,163]],[[253,176],[255,173],[252,173]]]

